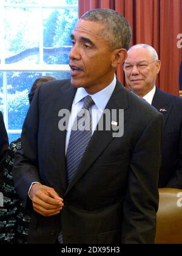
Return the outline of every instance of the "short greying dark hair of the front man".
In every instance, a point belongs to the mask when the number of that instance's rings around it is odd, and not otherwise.
[[[94,9],[84,13],[81,20],[103,24],[101,37],[112,49],[129,49],[131,28],[126,18],[120,13],[111,9]]]

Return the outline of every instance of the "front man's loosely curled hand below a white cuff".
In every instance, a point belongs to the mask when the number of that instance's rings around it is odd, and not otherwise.
[[[62,210],[63,199],[53,188],[34,183],[29,193],[32,198],[33,209],[42,216],[57,215]]]

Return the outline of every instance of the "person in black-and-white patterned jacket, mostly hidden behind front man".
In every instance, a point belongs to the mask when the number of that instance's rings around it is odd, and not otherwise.
[[[32,101],[36,88],[42,83],[56,80],[52,76],[43,76],[35,80],[29,93]],[[27,243],[30,214],[25,212],[13,184],[12,169],[15,154],[21,149],[21,138],[13,141],[8,147],[7,155],[2,163],[0,192],[3,195],[3,207],[0,207],[0,243]]]

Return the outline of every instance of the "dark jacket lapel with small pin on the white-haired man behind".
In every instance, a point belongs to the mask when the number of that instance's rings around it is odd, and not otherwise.
[[[163,113],[165,126],[166,121],[169,118],[169,114],[174,106],[171,102],[166,101],[166,98],[164,98],[162,92],[158,88],[156,88],[153,96],[152,106],[157,108],[160,113]]]

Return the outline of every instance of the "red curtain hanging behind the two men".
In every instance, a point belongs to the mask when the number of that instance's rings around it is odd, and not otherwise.
[[[132,27],[132,45],[150,44],[158,52],[162,66],[157,85],[161,90],[179,95],[182,61],[182,0],[79,0],[79,16],[87,10],[110,8],[123,14]],[[123,68],[117,77],[124,84]]]

